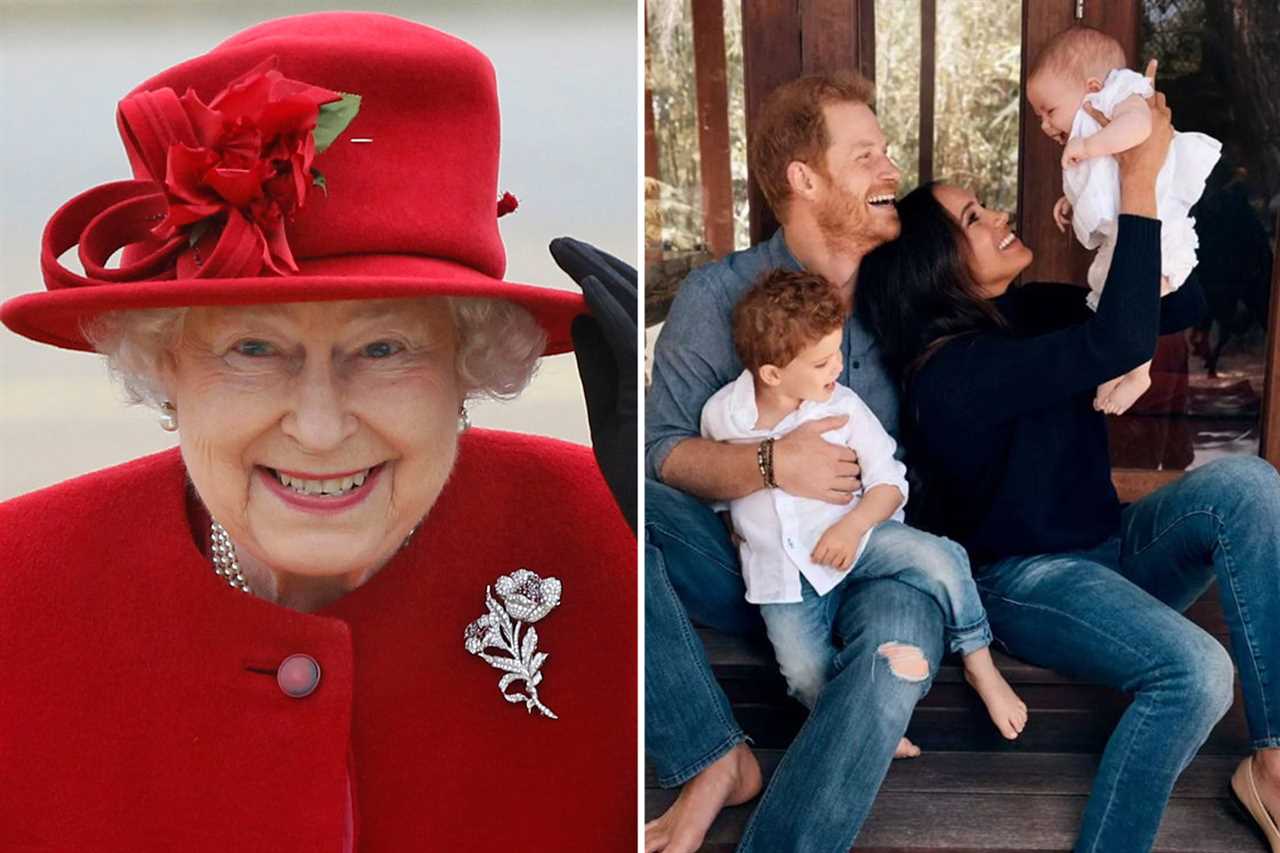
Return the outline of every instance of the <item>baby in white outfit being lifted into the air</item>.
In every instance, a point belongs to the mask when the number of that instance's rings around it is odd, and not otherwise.
[[[1062,191],[1053,206],[1060,231],[1071,224],[1085,248],[1098,250],[1089,266],[1089,307],[1111,266],[1120,215],[1120,173],[1112,154],[1138,145],[1151,133],[1151,81],[1125,68],[1124,49],[1111,36],[1076,26],[1060,32],[1027,76],[1027,99],[1041,129],[1064,145]],[[1110,123],[1100,124],[1088,104]],[[1222,145],[1203,133],[1175,133],[1156,182],[1161,222],[1161,295],[1187,280],[1196,266],[1196,220],[1188,215]],[[1098,386],[1094,409],[1119,415],[1151,387],[1151,362]]]

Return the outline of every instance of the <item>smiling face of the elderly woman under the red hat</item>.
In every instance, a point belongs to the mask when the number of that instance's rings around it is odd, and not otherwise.
[[[389,560],[453,465],[456,350],[443,298],[191,309],[164,383],[242,557],[351,587]]]

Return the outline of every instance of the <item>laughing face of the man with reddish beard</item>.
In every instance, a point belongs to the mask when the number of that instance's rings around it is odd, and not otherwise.
[[[893,197],[902,173],[865,104],[828,104],[823,117],[831,143],[822,168],[810,169],[814,216],[829,246],[865,254],[901,229]]]

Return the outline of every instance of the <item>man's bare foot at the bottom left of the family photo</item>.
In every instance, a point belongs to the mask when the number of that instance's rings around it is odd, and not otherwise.
[[[760,762],[740,743],[685,783],[662,817],[644,825],[645,853],[694,853],[721,809],[751,799],[760,785]]]

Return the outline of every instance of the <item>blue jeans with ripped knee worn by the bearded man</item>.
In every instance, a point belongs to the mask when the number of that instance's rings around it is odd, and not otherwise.
[[[704,503],[645,480],[644,533],[645,749],[659,783],[672,786],[745,739],[690,617],[736,634],[763,624],[744,599],[736,548]],[[835,617],[842,648],[831,681],[769,780],[740,850],[845,853],[937,672],[942,617],[932,598],[895,580],[849,585]],[[929,675],[896,675],[878,651],[886,643],[918,648]]]

